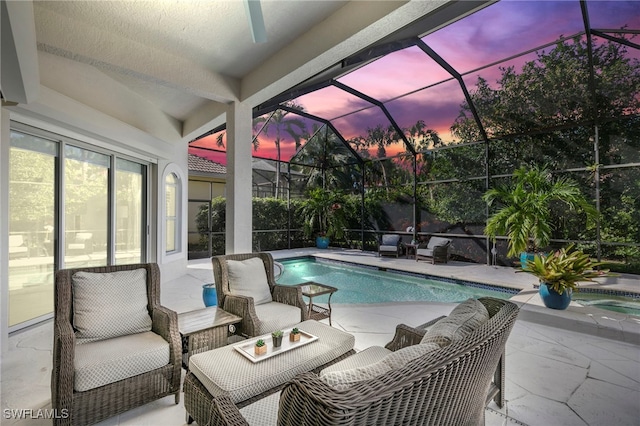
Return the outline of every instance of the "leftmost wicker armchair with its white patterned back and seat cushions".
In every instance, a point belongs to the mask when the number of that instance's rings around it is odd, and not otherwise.
[[[60,270],[54,315],[54,425],[98,423],[171,394],[180,401],[178,317],[160,305],[157,264]]]

